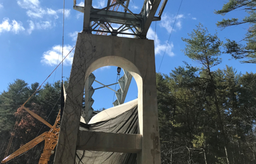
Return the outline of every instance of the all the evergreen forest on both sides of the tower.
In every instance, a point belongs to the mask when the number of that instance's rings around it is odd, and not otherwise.
[[[247,23],[244,43],[210,34],[199,24],[182,38],[183,53],[200,66],[188,65],[156,74],[162,164],[255,164],[256,163],[256,74],[241,74],[236,68],[219,69],[222,54],[256,63],[256,1],[229,0],[215,11],[225,15],[242,8],[249,13],[243,20],[223,19],[218,27]],[[25,110],[19,109],[39,83],[29,85],[16,79],[0,93],[0,159],[11,135],[14,152],[36,136],[49,130]],[[68,86],[68,81],[65,81]],[[30,110],[53,124],[59,112],[61,82],[46,83],[26,104]],[[18,109],[18,110],[17,110]],[[17,117],[21,119],[16,122]],[[12,129],[18,124],[16,133]],[[39,125],[39,126],[38,126]],[[34,164],[44,143],[37,145],[11,164]],[[53,156],[49,163],[53,163]]]

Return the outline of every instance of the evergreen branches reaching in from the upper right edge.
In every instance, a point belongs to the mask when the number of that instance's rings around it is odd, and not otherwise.
[[[221,10],[215,11],[217,14],[226,15],[236,9],[245,10],[248,16],[242,20],[238,18],[223,19],[217,23],[218,27],[226,28],[229,26],[237,26],[240,24],[248,24],[249,29],[243,39],[246,45],[240,44],[236,41],[227,39],[225,44],[226,53],[231,54],[236,59],[248,58],[249,60],[242,61],[242,63],[256,63],[256,1],[255,0],[229,0],[223,5]]]

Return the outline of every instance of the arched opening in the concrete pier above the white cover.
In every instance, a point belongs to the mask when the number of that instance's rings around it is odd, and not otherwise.
[[[117,67],[121,67],[120,75],[117,73]],[[106,56],[91,63],[86,70],[88,78],[85,79],[87,81],[84,90],[85,100],[89,95],[88,103],[85,102],[82,112],[85,121],[88,122],[91,117],[104,109],[138,98],[139,86],[142,87],[142,78],[139,74],[133,63],[118,56]],[[88,84],[89,90],[86,92]]]

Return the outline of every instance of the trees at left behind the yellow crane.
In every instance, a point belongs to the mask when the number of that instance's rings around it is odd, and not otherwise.
[[[67,85],[67,81],[64,83]],[[15,152],[22,145],[31,141],[40,134],[50,130],[50,128],[19,107],[35,92],[38,83],[29,86],[25,81],[16,79],[8,85],[7,91],[0,94],[0,161],[4,159],[12,130],[19,117],[18,126],[15,131],[14,139],[8,155]],[[51,125],[54,124],[60,105],[61,82],[54,84],[46,83],[35,95],[27,102],[26,107],[38,114]],[[24,155],[12,160],[10,164],[35,164],[38,163],[44,148],[44,142],[25,153]],[[54,155],[51,156],[49,164],[53,162]]]

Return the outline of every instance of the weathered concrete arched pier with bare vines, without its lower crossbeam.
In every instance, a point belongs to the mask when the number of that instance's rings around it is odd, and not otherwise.
[[[75,161],[84,82],[103,66],[129,71],[138,85],[138,164],[160,164],[154,41],[79,33],[54,164]]]

